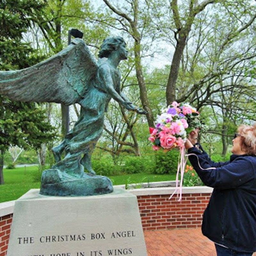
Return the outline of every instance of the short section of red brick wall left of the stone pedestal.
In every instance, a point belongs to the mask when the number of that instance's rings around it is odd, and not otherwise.
[[[0,217],[0,256],[7,255],[7,246],[11,231],[12,214]]]

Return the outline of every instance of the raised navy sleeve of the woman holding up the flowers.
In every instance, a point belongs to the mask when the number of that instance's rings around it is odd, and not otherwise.
[[[206,186],[218,189],[237,188],[254,179],[254,167],[247,157],[239,156],[223,166],[203,170],[213,167],[203,153],[196,148],[190,148],[188,153],[198,157],[189,156],[189,161]]]

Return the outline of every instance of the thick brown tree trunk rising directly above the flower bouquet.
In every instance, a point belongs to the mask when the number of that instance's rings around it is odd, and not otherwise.
[[[171,65],[168,82],[166,86],[167,106],[170,105],[176,99],[175,85],[176,85],[178,74],[179,74],[180,60],[186,45],[186,39],[187,39],[187,36],[183,36],[178,40],[178,43],[172,58],[172,65]]]

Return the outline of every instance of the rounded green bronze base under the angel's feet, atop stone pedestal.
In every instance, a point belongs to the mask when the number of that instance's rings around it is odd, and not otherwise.
[[[47,196],[93,196],[113,192],[111,180],[105,176],[84,173],[76,177],[58,169],[42,173],[40,194]]]

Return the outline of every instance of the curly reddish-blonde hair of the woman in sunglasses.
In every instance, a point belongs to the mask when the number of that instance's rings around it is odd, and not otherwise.
[[[247,155],[256,156],[256,123],[252,126],[241,124],[237,128],[241,135],[241,148]]]

